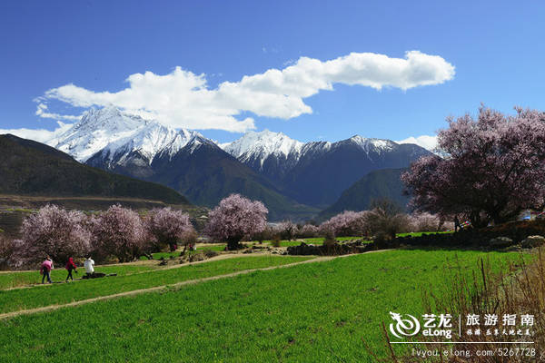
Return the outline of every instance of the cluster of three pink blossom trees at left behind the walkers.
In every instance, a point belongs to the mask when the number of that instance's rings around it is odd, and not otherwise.
[[[195,231],[186,213],[170,208],[155,209],[141,218],[120,205],[91,216],[47,205],[23,221],[21,235],[20,240],[5,241],[4,249],[12,252],[15,265],[31,265],[46,255],[56,261],[114,256],[124,262],[188,242]]]

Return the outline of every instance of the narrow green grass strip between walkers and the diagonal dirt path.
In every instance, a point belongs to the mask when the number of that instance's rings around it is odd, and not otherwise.
[[[36,286],[29,289],[11,289],[0,291],[0,313],[64,304],[134,289],[152,288],[183,280],[200,279],[240,270],[260,269],[309,259],[312,258],[292,256],[239,257],[191,264],[176,269],[82,280],[68,284]]]

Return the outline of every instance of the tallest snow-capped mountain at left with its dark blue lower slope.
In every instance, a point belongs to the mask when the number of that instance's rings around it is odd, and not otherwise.
[[[238,192],[263,201],[272,220],[304,219],[316,212],[282,195],[263,175],[199,132],[174,130],[114,107],[84,113],[48,143],[79,162],[171,187],[198,205],[213,207]]]

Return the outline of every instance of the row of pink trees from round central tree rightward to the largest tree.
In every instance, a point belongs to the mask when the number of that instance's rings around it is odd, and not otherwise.
[[[227,241],[229,249],[237,249],[241,240],[292,240],[331,235],[371,237],[378,233],[393,238],[403,231],[440,231],[447,227],[438,216],[430,213],[409,215],[388,200],[374,201],[371,211],[344,211],[320,226],[297,225],[292,221],[267,225],[266,214],[260,201],[249,201],[233,194],[210,212],[204,233],[214,240]]]

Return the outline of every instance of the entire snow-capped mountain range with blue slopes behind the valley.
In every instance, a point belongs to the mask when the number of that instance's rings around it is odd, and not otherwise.
[[[189,201],[213,207],[232,192],[261,200],[270,220],[310,218],[369,172],[406,168],[427,150],[414,144],[353,136],[298,142],[281,132],[248,132],[217,144],[114,107],[90,110],[47,142],[79,162],[159,182]]]

